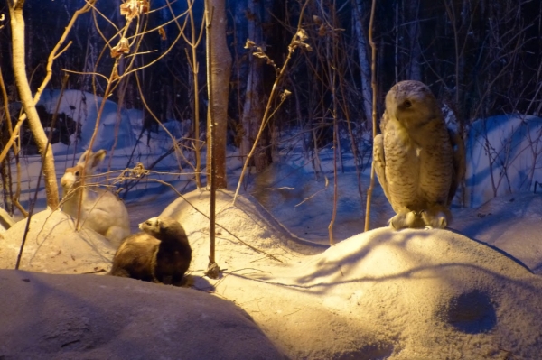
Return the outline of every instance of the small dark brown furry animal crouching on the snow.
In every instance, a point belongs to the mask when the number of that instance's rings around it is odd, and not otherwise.
[[[118,248],[109,274],[182,285],[192,248],[181,224],[171,217],[153,217],[139,228],[142,233],[126,237]]]

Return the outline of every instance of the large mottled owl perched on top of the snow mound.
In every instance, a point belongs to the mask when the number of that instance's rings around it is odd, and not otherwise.
[[[378,181],[397,213],[394,228],[438,227],[451,221],[450,204],[464,175],[461,136],[448,129],[433,93],[419,81],[397,83],[374,139]]]

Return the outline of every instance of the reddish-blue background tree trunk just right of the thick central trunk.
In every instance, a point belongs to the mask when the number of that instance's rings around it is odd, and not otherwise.
[[[257,43],[263,43],[263,30],[261,24],[262,1],[248,0],[247,22],[248,39]],[[263,63],[255,56],[248,57],[248,79],[243,104],[241,124],[244,129],[244,136],[241,141],[241,155],[247,156],[254,144],[258,130],[264,117],[263,99]],[[271,152],[268,146],[268,136],[262,136],[257,143],[254,154],[254,165],[256,171],[261,172],[271,163]]]

